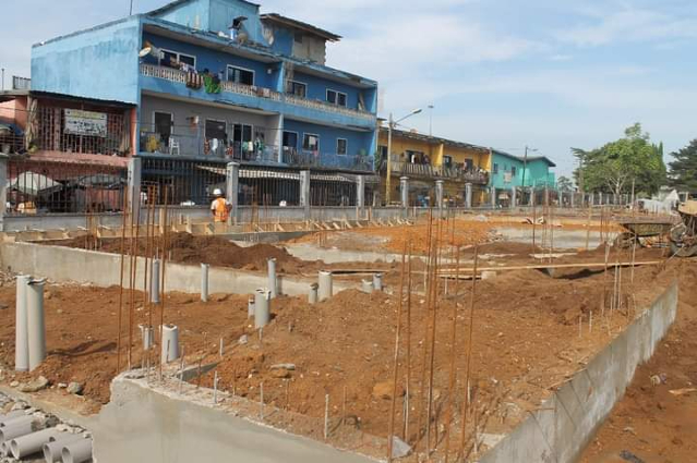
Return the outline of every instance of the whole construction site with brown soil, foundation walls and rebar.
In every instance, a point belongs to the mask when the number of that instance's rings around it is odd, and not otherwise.
[[[120,223],[3,233],[8,458],[51,439],[100,463],[697,450],[689,205],[214,223],[122,200]]]

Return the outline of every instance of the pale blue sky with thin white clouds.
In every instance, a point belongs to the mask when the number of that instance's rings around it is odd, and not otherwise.
[[[167,2],[133,1],[135,13]],[[32,44],[125,16],[129,3],[5,0],[5,86],[29,75]],[[694,0],[268,0],[262,12],[341,35],[327,64],[378,81],[381,117],[423,109],[402,129],[519,156],[528,146],[557,174],[574,169],[570,147],[635,122],[666,154],[697,137]]]

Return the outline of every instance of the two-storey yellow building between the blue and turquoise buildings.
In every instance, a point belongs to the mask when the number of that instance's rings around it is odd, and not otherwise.
[[[387,129],[380,129],[376,168],[381,174],[382,197],[385,195],[387,173]],[[443,181],[444,199],[462,206],[466,185],[472,185],[472,205],[485,196],[491,172],[491,149],[418,132],[393,130],[389,203],[398,203],[399,179],[409,179],[409,204],[434,204],[435,182]]]

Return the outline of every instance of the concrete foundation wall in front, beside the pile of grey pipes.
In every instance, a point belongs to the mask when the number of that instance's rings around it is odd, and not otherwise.
[[[372,461],[121,378],[91,430],[99,463]]]

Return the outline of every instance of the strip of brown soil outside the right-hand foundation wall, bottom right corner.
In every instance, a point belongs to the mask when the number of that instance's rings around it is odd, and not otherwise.
[[[683,261],[680,272],[682,284],[675,324],[653,357],[637,368],[624,399],[588,446],[581,462],[695,461],[697,261]]]

